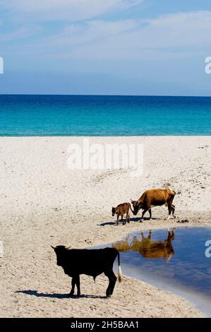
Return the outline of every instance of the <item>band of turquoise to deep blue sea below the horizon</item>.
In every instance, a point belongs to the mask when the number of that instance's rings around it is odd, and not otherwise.
[[[0,136],[210,134],[211,97],[0,95]]]

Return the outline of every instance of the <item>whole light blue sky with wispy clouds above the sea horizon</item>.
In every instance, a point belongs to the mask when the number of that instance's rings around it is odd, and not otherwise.
[[[0,0],[0,93],[211,95],[211,2]]]

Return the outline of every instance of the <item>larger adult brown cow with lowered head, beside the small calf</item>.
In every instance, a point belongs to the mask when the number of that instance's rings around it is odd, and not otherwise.
[[[138,211],[143,209],[142,217],[140,219],[140,222],[143,221],[143,216],[147,211],[150,213],[150,220],[152,219],[152,211],[151,208],[153,206],[162,206],[166,204],[169,209],[169,215],[168,218],[170,218],[170,215],[172,213],[172,216],[174,218],[174,211],[175,206],[172,204],[174,200],[174,196],[176,195],[176,192],[171,189],[148,189],[146,190],[142,196],[138,199],[138,201],[132,201],[133,204],[133,215],[137,215]]]

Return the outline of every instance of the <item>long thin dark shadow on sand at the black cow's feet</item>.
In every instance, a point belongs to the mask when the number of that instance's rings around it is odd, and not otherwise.
[[[34,295],[36,297],[49,297],[51,299],[80,299],[80,298],[89,298],[89,299],[107,299],[106,296],[100,296],[100,295],[80,295],[80,297],[77,297],[76,295],[73,295],[72,297],[69,297],[68,294],[59,294],[59,293],[39,293],[37,290],[16,290],[16,293],[22,293],[26,295]]]

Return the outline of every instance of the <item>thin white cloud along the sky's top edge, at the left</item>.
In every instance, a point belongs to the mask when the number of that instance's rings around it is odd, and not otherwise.
[[[107,11],[125,9],[140,4],[143,0],[1,0],[4,8],[17,19],[85,20],[94,18]]]

